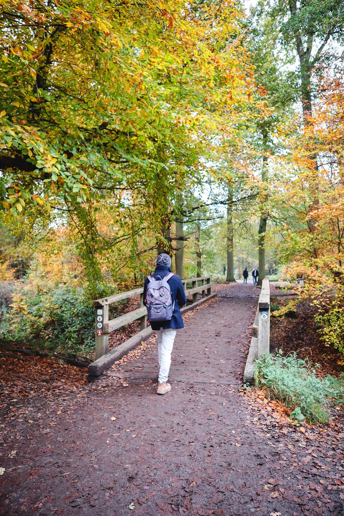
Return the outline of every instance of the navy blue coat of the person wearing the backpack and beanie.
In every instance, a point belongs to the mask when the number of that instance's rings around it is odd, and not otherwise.
[[[169,272],[171,272],[171,269],[167,267],[167,265],[157,265],[155,268],[155,271],[153,273],[154,278],[157,276],[160,276],[161,279],[164,278]],[[146,304],[146,292],[147,292],[147,285],[149,284],[149,279],[146,278],[144,280],[144,287],[143,287],[143,304]],[[166,330],[167,328],[184,328],[184,322],[183,317],[181,314],[181,309],[179,307],[183,307],[184,304],[186,304],[186,295],[184,292],[183,283],[181,280],[181,277],[175,274],[168,280],[168,284],[171,288],[171,295],[172,295],[172,304],[174,303],[174,309],[173,309],[173,315],[172,319],[169,321],[160,321],[160,322],[152,322],[152,330],[160,330],[160,328],[163,328]],[[175,302],[174,302],[175,301]]]

